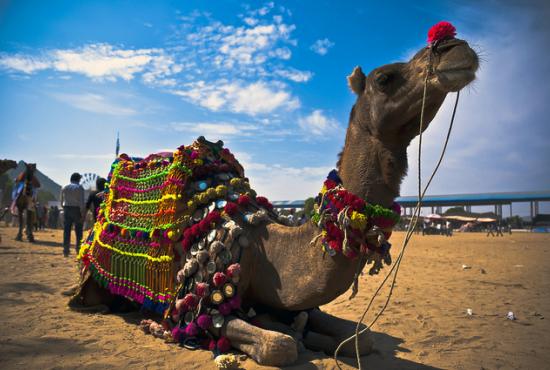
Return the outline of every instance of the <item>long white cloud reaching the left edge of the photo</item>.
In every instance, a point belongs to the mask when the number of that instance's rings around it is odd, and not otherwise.
[[[0,66],[26,74],[51,69],[99,81],[129,81],[143,73],[144,81],[150,84],[181,71],[181,66],[162,49],[120,49],[105,43],[49,50],[41,57],[4,54],[0,56]]]

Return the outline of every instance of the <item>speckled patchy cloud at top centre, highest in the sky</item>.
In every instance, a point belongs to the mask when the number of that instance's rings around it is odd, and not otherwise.
[[[185,22],[175,35],[174,49],[179,61],[195,62],[193,73],[202,79],[278,77],[273,70],[292,58],[291,48],[296,46],[292,33],[296,27],[285,23],[282,14],[267,16],[274,9],[269,4],[262,9],[240,15],[242,25],[202,15]]]

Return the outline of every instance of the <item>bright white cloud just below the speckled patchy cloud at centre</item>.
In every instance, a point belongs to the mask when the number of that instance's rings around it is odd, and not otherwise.
[[[294,110],[300,106],[298,98],[293,97],[283,86],[270,86],[262,81],[198,81],[187,87],[185,90],[174,90],[173,93],[213,111],[223,109],[257,115],[278,109]]]

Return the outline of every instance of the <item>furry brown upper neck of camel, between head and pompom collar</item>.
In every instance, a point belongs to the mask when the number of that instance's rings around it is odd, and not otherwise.
[[[350,123],[338,171],[348,191],[389,207],[407,171],[407,149],[384,144]]]

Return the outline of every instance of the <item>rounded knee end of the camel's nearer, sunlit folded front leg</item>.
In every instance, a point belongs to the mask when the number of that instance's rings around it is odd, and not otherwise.
[[[260,365],[286,366],[298,359],[298,346],[289,335],[269,332],[248,355]]]

